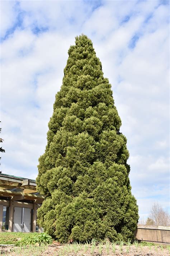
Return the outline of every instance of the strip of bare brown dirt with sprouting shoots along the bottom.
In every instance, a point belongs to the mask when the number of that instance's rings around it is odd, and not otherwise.
[[[38,245],[37,245],[38,246]],[[134,245],[131,246],[122,246],[122,249],[116,245],[114,248],[110,244],[109,247],[105,245],[96,245],[93,248],[90,244],[86,245],[62,245],[58,243],[53,243],[51,245],[46,246],[44,250],[38,252],[38,248],[35,246],[32,248],[30,252],[30,248],[22,248],[22,250],[18,251],[16,247],[0,247],[1,255],[7,256],[45,256],[45,255],[52,255],[52,256],[106,256],[106,255],[114,255],[114,256],[167,256],[169,254],[169,249],[166,246],[162,245],[155,245],[155,246],[139,246],[136,247]]]

